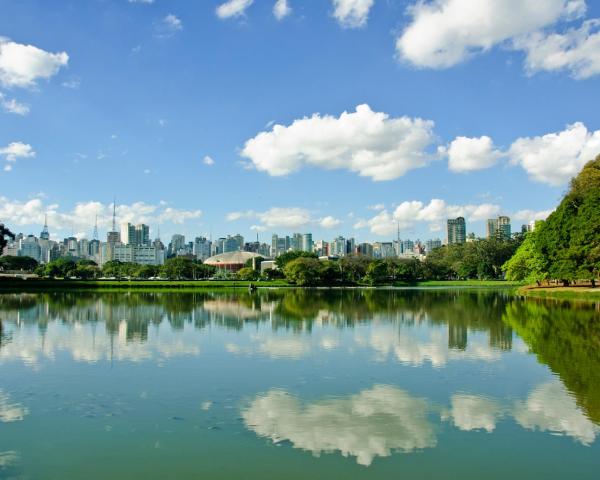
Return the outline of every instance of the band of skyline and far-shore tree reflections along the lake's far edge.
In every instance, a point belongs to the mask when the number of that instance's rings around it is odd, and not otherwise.
[[[212,290],[193,293],[77,292],[0,296],[0,311],[19,323],[44,328],[104,322],[109,334],[126,323],[128,340],[145,341],[148,327],[167,321],[172,329],[218,325],[240,330],[268,322],[273,329],[310,332],[315,323],[339,328],[365,322],[448,325],[448,346],[464,350],[469,331],[489,332],[490,345],[508,350],[512,330],[501,320],[510,299],[501,293],[449,290],[281,289]]]

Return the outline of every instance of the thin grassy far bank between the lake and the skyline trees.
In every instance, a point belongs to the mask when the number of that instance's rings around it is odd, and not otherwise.
[[[285,280],[241,281],[241,280],[51,280],[51,279],[1,279],[0,292],[29,291],[73,291],[73,290],[160,290],[181,291],[212,288],[298,288]],[[499,280],[428,280],[422,282],[396,282],[393,285],[381,285],[375,288],[515,288],[519,282]],[[325,286],[327,287],[327,286]],[[332,287],[339,287],[333,285]],[[366,285],[347,285],[347,287],[366,287]]]

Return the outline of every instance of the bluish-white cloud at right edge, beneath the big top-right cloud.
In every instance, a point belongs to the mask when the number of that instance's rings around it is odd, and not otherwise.
[[[564,34],[534,32],[515,40],[514,47],[525,51],[530,74],[567,70],[574,78],[589,78],[600,74],[599,27],[600,20],[594,19]]]

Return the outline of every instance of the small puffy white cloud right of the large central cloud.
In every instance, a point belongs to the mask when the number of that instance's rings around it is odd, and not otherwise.
[[[494,148],[492,139],[456,137],[448,148],[442,147],[441,153],[448,156],[448,167],[454,172],[481,170],[496,164],[503,153]]]

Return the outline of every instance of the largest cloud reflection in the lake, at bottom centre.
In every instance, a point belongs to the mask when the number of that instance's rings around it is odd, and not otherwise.
[[[281,390],[258,396],[242,411],[246,427],[274,443],[319,455],[340,452],[370,465],[394,451],[412,452],[437,444],[428,405],[404,390],[376,385],[348,396],[310,403]]]

